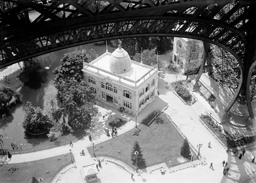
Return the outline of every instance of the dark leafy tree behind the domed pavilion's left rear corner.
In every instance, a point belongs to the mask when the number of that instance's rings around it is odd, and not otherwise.
[[[76,50],[70,53],[64,54],[64,57],[60,60],[60,66],[53,70],[54,84],[57,85],[61,80],[75,79],[76,81],[83,80],[83,61],[89,63],[97,58],[96,52],[91,49],[86,50]],[[58,89],[58,88],[57,88]]]

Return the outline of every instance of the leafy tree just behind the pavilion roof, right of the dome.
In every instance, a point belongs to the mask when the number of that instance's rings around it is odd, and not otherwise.
[[[134,61],[141,62],[141,53],[136,53],[133,57]],[[155,50],[144,50],[142,51],[142,63],[148,66],[155,66],[158,62],[158,68],[162,69],[164,67],[163,61],[157,61],[157,54]]]

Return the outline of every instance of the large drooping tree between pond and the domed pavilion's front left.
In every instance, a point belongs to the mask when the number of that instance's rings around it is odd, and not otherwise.
[[[75,79],[59,83],[58,95],[61,105],[53,112],[56,120],[68,116],[68,125],[74,130],[86,127],[91,123],[91,117],[98,113],[95,106],[95,93],[86,82]]]

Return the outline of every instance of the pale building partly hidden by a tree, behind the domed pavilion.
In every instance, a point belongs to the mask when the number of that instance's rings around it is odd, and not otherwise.
[[[180,50],[184,48],[187,44],[189,39],[183,38],[183,37],[174,37],[173,39],[173,51],[172,51],[172,62],[180,65],[177,55],[179,54]],[[195,70],[199,69],[201,66],[201,63],[203,61],[203,42],[198,41],[198,46],[200,48],[199,52],[194,55],[194,58],[190,60],[190,63],[194,63]],[[183,62],[183,66],[186,64],[185,61]],[[184,69],[181,68],[182,73],[184,73]]]

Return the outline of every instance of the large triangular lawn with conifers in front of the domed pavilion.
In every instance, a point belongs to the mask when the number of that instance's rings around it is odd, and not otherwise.
[[[146,167],[164,162],[163,157],[166,155],[171,161],[168,163],[169,167],[182,164],[184,161],[188,162],[189,159],[180,155],[183,137],[164,114],[161,114],[160,117],[165,120],[164,124],[157,125],[152,122],[150,126],[147,126],[148,123],[144,120],[143,124],[138,125],[138,129],[141,130],[139,136],[132,136],[132,131],[138,130],[134,128],[120,136],[97,144],[95,155],[116,158],[135,169],[131,161],[131,151],[134,141],[138,140]],[[103,146],[103,148],[99,148],[99,146]],[[88,151],[93,156],[93,148],[89,147]],[[145,168],[139,165],[138,167]]]

